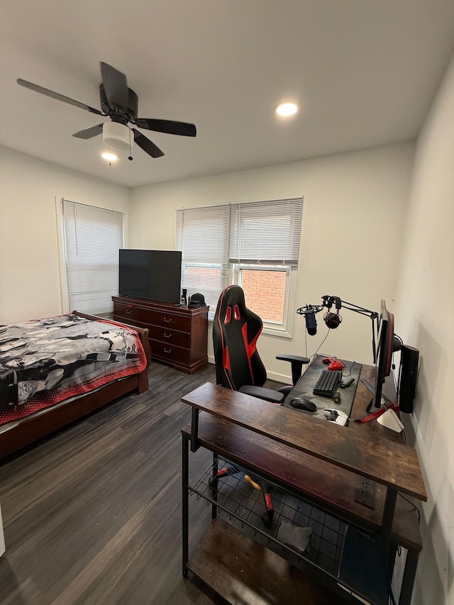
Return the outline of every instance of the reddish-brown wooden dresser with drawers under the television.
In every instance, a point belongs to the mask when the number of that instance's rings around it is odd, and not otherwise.
[[[151,358],[193,374],[208,363],[209,307],[187,309],[171,303],[112,296],[114,320],[148,328]]]

